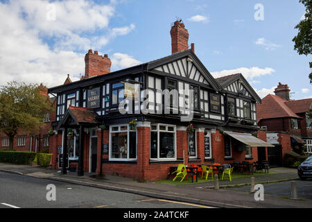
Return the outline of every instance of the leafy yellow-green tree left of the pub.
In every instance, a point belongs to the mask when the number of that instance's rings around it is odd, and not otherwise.
[[[12,81],[0,87],[0,132],[5,133],[13,149],[18,130],[37,132],[44,115],[52,110],[49,97],[40,94],[42,85]]]

